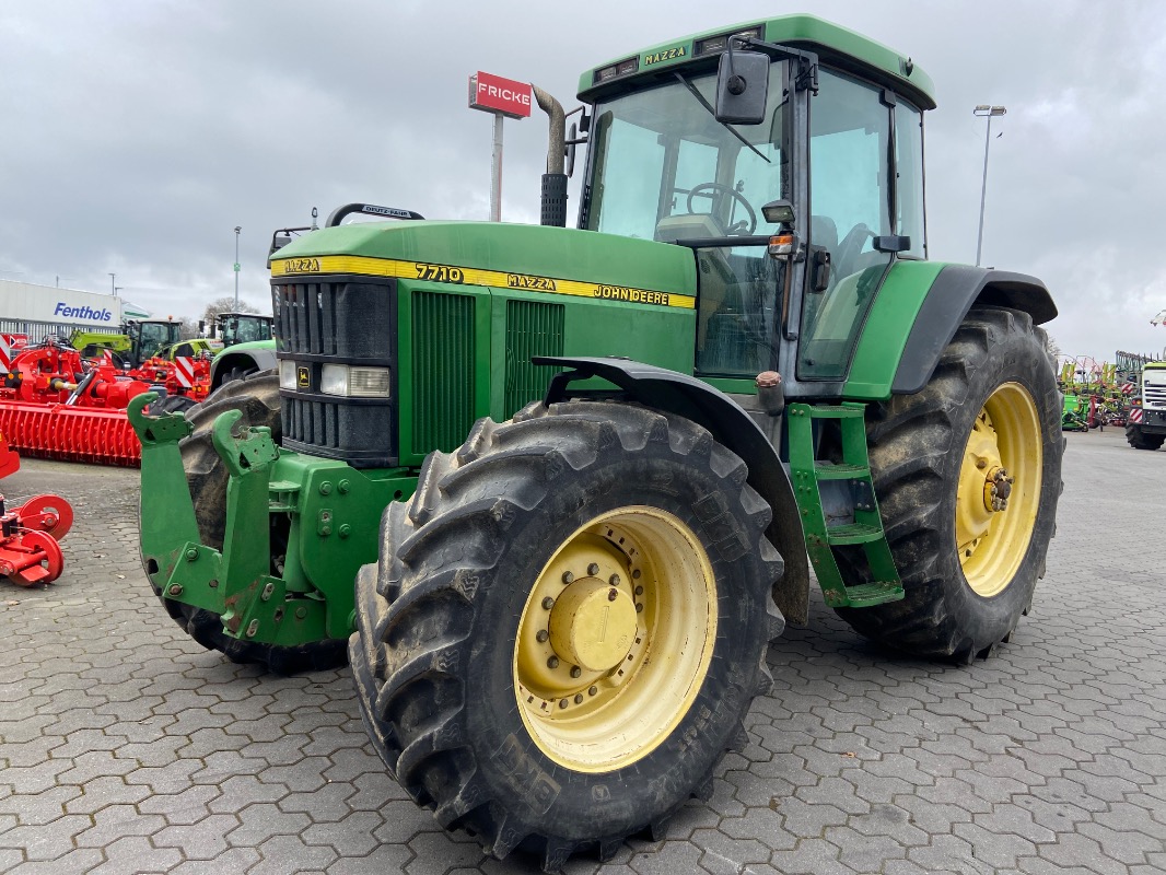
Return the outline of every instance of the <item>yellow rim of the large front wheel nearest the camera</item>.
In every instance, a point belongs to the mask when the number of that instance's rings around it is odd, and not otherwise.
[[[606,772],[651,754],[688,713],[717,632],[708,554],[654,508],[604,513],[539,574],[514,642],[519,713],[561,765]]]

